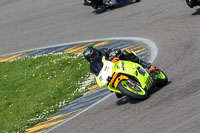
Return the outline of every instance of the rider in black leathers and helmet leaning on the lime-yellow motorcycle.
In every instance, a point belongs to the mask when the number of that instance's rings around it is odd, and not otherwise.
[[[116,59],[117,61],[126,60],[140,64],[143,68],[146,68],[148,73],[153,74],[158,70],[157,67],[152,66],[151,63],[147,63],[141,60],[134,52],[120,49],[109,49],[109,48],[101,48],[96,49],[93,46],[87,47],[83,55],[85,59],[90,63],[90,72],[93,73],[95,76],[98,76],[101,69],[102,69],[102,59],[105,57],[105,60],[112,61]],[[115,63],[115,62],[113,62]],[[112,92],[112,91],[111,91]],[[117,98],[123,97],[123,94],[116,93]]]

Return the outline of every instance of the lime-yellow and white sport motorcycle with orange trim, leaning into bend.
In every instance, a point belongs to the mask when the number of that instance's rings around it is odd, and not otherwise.
[[[107,87],[111,92],[135,100],[149,97],[152,86],[164,86],[168,83],[166,74],[152,67],[145,69],[140,64],[114,58],[112,61],[99,57],[91,63],[95,79],[100,87]]]

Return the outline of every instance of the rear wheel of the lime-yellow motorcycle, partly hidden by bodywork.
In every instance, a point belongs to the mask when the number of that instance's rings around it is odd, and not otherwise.
[[[168,78],[167,78],[167,75],[162,70],[159,70],[159,71],[162,75],[158,77],[156,76],[157,77],[156,86],[163,87],[168,84]]]

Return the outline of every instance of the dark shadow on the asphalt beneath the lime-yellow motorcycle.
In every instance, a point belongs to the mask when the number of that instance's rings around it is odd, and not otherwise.
[[[168,81],[167,85],[169,85],[172,81]],[[167,86],[165,85],[165,86]],[[163,87],[165,87],[163,86]],[[149,92],[149,97],[151,97],[151,95],[153,95],[154,93],[158,92],[159,90],[161,90],[163,87],[153,87],[151,88],[148,92]],[[137,104],[137,103],[140,103],[142,101],[139,101],[139,100],[134,100],[134,99],[131,99],[131,98],[128,98],[128,97],[123,97],[123,98],[120,98],[117,102],[116,102],[116,105],[120,106],[120,105],[123,105],[123,104],[127,104],[127,103],[130,103],[130,104]]]

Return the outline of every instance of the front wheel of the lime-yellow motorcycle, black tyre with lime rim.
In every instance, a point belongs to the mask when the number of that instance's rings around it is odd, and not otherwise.
[[[124,95],[131,99],[145,100],[149,97],[146,89],[143,89],[138,84],[132,85],[127,80],[122,80],[118,84],[117,89],[119,89]]]

